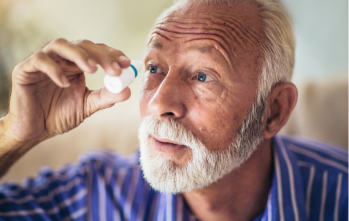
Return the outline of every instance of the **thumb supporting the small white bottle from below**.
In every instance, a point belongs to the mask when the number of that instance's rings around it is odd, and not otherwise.
[[[85,102],[84,119],[99,110],[110,108],[118,102],[125,101],[130,96],[131,90],[129,87],[126,87],[118,94],[109,92],[105,87],[98,90],[90,90]]]

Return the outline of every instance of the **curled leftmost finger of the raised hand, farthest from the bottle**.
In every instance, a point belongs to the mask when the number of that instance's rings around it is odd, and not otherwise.
[[[14,77],[20,80],[19,83],[21,84],[36,83],[38,79],[32,77],[34,72],[46,74],[60,87],[67,87],[70,85],[58,64],[44,52],[34,53],[24,63],[16,67]]]

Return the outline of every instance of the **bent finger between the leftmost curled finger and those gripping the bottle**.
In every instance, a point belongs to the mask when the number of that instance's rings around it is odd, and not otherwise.
[[[96,61],[81,47],[63,39],[58,38],[50,42],[43,50],[49,56],[59,56],[74,62],[81,70],[94,73],[97,70]]]

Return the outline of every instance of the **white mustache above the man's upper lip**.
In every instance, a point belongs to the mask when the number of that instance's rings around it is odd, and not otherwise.
[[[139,133],[141,132],[172,140],[191,149],[204,146],[203,142],[197,138],[193,132],[189,131],[172,118],[160,120],[153,114],[149,114],[141,121]]]

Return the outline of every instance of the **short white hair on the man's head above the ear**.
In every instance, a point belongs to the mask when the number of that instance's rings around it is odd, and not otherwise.
[[[264,37],[261,38],[261,53],[264,59],[260,67],[257,100],[264,100],[274,85],[291,81],[295,40],[291,17],[279,0],[175,0],[174,6],[162,16],[190,1],[226,3],[230,7],[236,3],[254,5],[259,11],[264,32]]]

